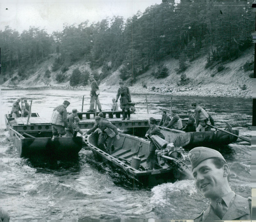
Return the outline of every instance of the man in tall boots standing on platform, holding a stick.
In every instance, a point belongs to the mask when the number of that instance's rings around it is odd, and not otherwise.
[[[120,108],[123,111],[123,119],[125,120],[125,109],[127,110],[127,120],[130,119],[130,105],[128,104],[129,102],[131,102],[131,93],[130,90],[127,86],[124,86],[124,82],[120,81],[119,82],[120,88],[117,90],[117,94],[116,94],[116,102],[119,98],[119,96],[121,95],[120,98]]]

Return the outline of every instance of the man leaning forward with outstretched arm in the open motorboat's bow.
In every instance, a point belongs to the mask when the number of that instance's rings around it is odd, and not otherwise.
[[[89,129],[86,133],[82,134],[82,136],[85,135],[85,137],[87,137],[87,135],[93,133],[95,129],[99,128],[102,132],[102,136],[100,137],[100,139],[98,139],[98,146],[101,150],[104,150],[104,143],[106,141],[107,152],[111,154],[111,146],[113,144],[115,136],[117,140],[120,139],[118,130],[116,126],[114,126],[111,122],[103,120],[100,116],[95,116],[95,122],[96,124],[94,124],[92,129]]]

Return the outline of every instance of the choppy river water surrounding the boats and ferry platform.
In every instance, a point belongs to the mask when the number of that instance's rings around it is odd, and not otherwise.
[[[176,181],[154,188],[142,187],[125,175],[98,162],[92,152],[82,149],[76,159],[47,161],[20,158],[5,130],[4,114],[21,97],[32,100],[32,112],[50,119],[63,100],[67,110],[89,109],[89,92],[65,90],[1,90],[0,107],[0,195],[1,207],[10,221],[96,221],[124,219],[193,219],[209,201],[195,188],[194,181]],[[115,93],[100,93],[102,109],[110,109]],[[170,108],[170,96],[147,95],[149,113]],[[145,95],[132,95],[136,113],[148,118]],[[172,97],[172,107],[180,111],[196,101],[215,121],[228,121],[251,137],[252,99]],[[223,125],[216,122],[216,125]],[[248,127],[249,126],[249,127]],[[220,152],[230,167],[230,186],[239,195],[251,196],[251,146],[240,140]]]

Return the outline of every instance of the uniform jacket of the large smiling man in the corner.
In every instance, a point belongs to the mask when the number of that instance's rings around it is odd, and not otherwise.
[[[232,203],[231,203],[232,202]],[[231,200],[228,211],[220,219],[213,210],[211,204],[206,211],[203,211],[194,222],[199,221],[216,221],[216,220],[251,220],[252,219],[252,198],[248,199],[236,194]]]

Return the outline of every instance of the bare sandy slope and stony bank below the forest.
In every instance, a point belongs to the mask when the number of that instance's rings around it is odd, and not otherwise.
[[[188,69],[184,72],[189,78],[188,84],[183,86],[178,86],[177,82],[180,80],[180,74],[176,74],[175,69],[179,66],[179,61],[177,59],[171,58],[164,62],[168,68],[169,76],[162,79],[154,78],[150,73],[155,68],[154,66],[137,77],[136,83],[134,83],[130,89],[132,92],[136,93],[166,93],[170,95],[196,95],[196,96],[227,96],[227,97],[252,97],[253,82],[252,78],[249,77],[249,72],[244,72],[243,65],[252,61],[254,58],[254,48],[246,50],[243,55],[233,62],[223,64],[225,69],[218,72],[217,68],[204,69],[207,56],[196,59],[195,61],[188,63]],[[61,87],[70,88],[69,77],[72,71],[79,67],[80,71],[84,69],[92,71],[88,64],[84,67],[84,61],[78,61],[69,67],[69,70],[64,73],[66,76],[66,81],[63,83],[58,83],[55,78],[60,70],[51,72],[51,77],[46,78],[44,76],[45,70],[51,69],[54,58],[57,55],[52,55],[50,59],[41,63],[34,69],[28,70],[30,73],[34,73],[28,79],[22,81],[16,80],[14,84],[18,87]],[[120,69],[121,67],[119,67]],[[103,79],[100,84],[100,90],[106,90],[109,92],[116,92],[119,87],[119,69],[114,70],[112,75]],[[98,69],[99,73],[101,72]],[[17,75],[18,70],[14,73]],[[251,71],[253,72],[253,71]],[[129,79],[127,80],[127,82]],[[146,85],[147,88],[143,87]],[[3,86],[13,86],[12,81],[6,81]],[[152,91],[152,87],[156,87]],[[76,89],[89,88],[87,87],[76,87]]]

